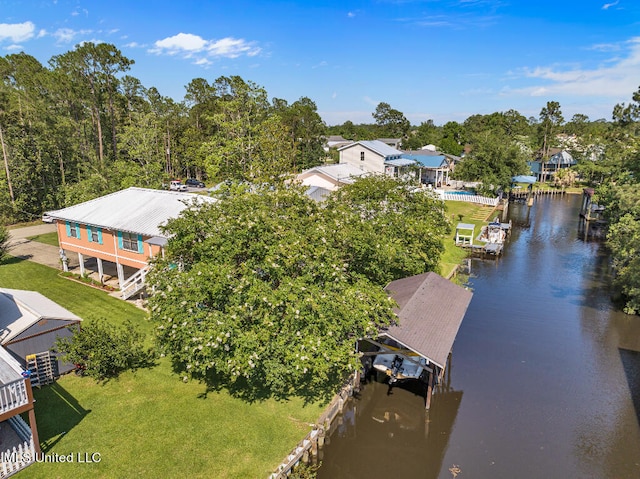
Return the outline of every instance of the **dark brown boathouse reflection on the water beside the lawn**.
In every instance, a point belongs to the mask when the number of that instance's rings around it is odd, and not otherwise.
[[[324,451],[319,479],[438,477],[462,391],[443,389],[424,409],[417,381],[373,381],[352,399]]]

